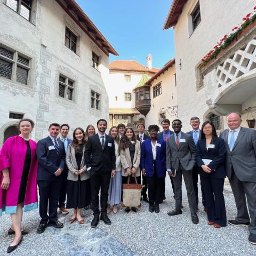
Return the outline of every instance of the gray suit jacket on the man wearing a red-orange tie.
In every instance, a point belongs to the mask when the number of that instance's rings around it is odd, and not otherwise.
[[[166,141],[166,169],[171,169],[173,172],[179,170],[179,164],[187,171],[192,170],[196,162],[196,146],[193,137],[181,132],[180,139],[185,139],[186,142],[180,142],[179,147],[176,145],[173,134]]]

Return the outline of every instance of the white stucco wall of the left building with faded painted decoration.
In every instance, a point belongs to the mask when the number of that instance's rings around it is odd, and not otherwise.
[[[36,122],[33,139],[46,137],[52,122],[68,123],[71,131],[108,120],[105,84],[109,76],[108,56],[82,31],[53,0],[38,0],[35,25],[0,1],[0,43],[32,59],[31,85],[14,83],[0,77],[0,143],[9,111],[25,114]],[[78,36],[77,54],[65,46],[66,26]],[[99,55],[99,71],[91,66],[92,51]],[[59,74],[75,81],[75,101],[58,95]],[[100,93],[100,110],[91,108],[91,90]],[[71,136],[71,132],[70,132]]]

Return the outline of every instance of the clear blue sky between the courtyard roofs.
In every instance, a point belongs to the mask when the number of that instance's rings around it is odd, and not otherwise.
[[[153,55],[153,67],[162,68],[174,58],[173,29],[163,30],[172,0],[76,0],[94,25],[108,39],[119,56],[113,60],[137,60],[146,66]]]

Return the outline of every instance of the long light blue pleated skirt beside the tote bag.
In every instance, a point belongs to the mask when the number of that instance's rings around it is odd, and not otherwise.
[[[111,178],[108,188],[108,204],[114,205],[121,203],[122,191],[122,175],[121,171],[116,172],[116,175]]]

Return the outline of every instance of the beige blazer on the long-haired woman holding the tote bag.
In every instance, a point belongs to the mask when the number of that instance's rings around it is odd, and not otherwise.
[[[122,164],[122,176],[127,177],[127,172],[125,172],[126,168],[132,169],[132,166],[135,167],[137,172],[135,173],[135,176],[140,176],[140,142],[137,140],[135,144],[135,153],[133,158],[133,164],[130,156],[129,148],[126,148],[125,150],[121,149],[120,151],[120,158],[121,158],[121,164]]]

